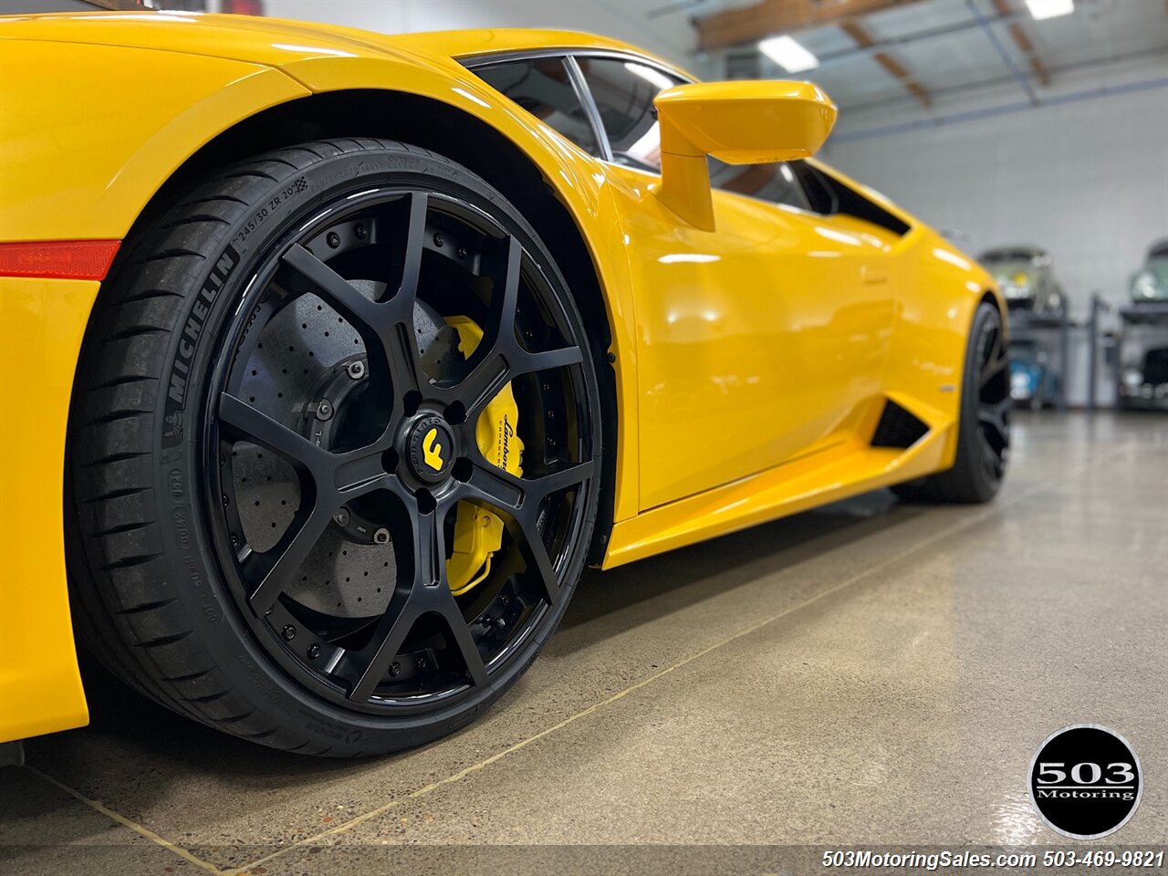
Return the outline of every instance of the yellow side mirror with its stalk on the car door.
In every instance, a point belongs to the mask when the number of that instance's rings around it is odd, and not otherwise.
[[[731,165],[809,158],[835,124],[835,105],[809,82],[700,82],[666,89],[654,105],[658,196],[703,231],[714,230],[707,155]]]

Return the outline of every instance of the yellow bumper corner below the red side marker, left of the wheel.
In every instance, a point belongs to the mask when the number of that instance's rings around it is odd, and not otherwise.
[[[92,280],[0,277],[0,387],[35,411],[0,429],[0,742],[89,721],[65,588],[65,424]],[[29,388],[33,389],[29,389]]]

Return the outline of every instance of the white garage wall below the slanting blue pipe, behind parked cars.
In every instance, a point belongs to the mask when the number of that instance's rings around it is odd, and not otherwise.
[[[1048,249],[1085,318],[1124,301],[1148,244],[1168,236],[1168,88],[830,146],[826,158],[976,255]]]

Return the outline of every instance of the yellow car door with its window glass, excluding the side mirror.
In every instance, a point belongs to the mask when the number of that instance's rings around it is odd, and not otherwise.
[[[633,277],[641,508],[847,440],[880,388],[892,322],[887,241],[816,213],[801,178],[818,172],[787,165],[711,161],[716,230],[686,224],[654,195],[653,99],[680,77],[635,56],[573,62]]]

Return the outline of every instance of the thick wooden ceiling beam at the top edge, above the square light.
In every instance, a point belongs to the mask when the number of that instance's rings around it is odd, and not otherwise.
[[[920,0],[760,0],[753,6],[726,9],[698,19],[702,50],[758,42],[776,34],[790,34],[821,25],[837,25],[894,6]]]

